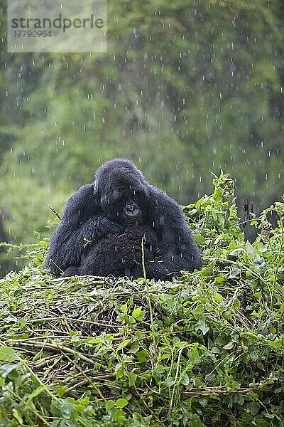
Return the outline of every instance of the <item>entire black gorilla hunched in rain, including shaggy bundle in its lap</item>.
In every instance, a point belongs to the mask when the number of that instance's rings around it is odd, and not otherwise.
[[[98,169],[94,183],[67,201],[45,265],[55,275],[127,273],[138,278],[143,276],[143,236],[147,278],[170,280],[180,270],[200,268],[200,253],[180,206],[148,184],[129,160],[112,159]]]

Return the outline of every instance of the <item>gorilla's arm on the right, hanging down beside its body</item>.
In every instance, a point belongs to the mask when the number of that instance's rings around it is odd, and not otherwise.
[[[150,218],[163,246],[163,268],[168,273],[192,272],[201,267],[200,252],[182,209],[163,191],[151,187]]]

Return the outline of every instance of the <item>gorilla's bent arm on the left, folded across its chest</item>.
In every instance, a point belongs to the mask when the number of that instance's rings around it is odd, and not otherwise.
[[[45,266],[60,275],[67,268],[80,265],[89,252],[88,242],[97,243],[107,234],[123,230],[119,223],[104,217],[94,184],[84,185],[67,201],[62,221],[50,241]]]

